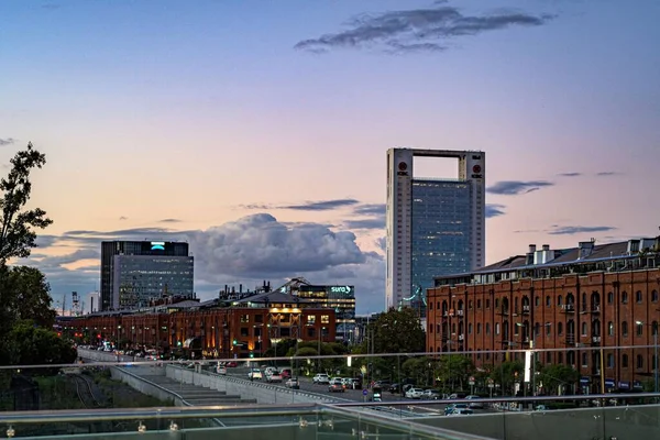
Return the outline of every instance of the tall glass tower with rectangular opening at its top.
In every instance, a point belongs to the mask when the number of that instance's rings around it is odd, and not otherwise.
[[[454,158],[459,178],[416,178],[414,157]],[[484,265],[485,162],[480,151],[387,151],[387,308],[425,316],[435,276]]]

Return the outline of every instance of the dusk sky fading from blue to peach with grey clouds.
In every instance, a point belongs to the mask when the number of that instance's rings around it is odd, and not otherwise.
[[[486,263],[658,234],[660,2],[0,0],[0,164],[47,164],[16,264],[98,288],[101,240],[186,240],[196,292],[385,306],[386,150],[486,152]],[[451,161],[415,166],[455,177]],[[57,304],[57,302],[56,302]]]

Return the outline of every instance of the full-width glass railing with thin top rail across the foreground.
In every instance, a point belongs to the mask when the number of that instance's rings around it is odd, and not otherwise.
[[[526,350],[492,352],[499,364],[486,367],[472,363],[483,352],[147,361],[79,350],[72,365],[0,366],[0,437],[660,438],[656,372],[608,366],[654,346],[580,349],[590,369],[526,371]]]

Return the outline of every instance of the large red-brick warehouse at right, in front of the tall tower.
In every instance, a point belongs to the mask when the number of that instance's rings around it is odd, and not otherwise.
[[[526,255],[437,277],[427,294],[427,351],[476,352],[475,364],[488,365],[522,360],[506,351],[534,346],[538,362],[576,369],[587,392],[601,384],[639,389],[656,369],[659,251],[660,238],[557,251],[530,245]]]

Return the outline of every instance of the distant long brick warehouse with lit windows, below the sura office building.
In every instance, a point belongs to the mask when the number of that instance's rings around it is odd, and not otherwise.
[[[59,318],[63,331],[82,342],[119,348],[193,349],[209,358],[258,356],[285,339],[333,342],[334,310],[279,292],[219,301],[184,300],[148,309]],[[282,353],[285,354],[285,353]]]

